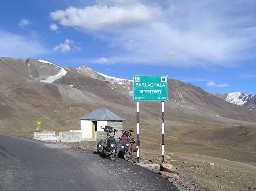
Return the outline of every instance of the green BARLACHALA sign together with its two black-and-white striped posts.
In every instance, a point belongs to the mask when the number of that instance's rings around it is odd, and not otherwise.
[[[139,102],[161,101],[162,102],[162,144],[161,155],[164,163],[164,102],[168,101],[168,78],[167,76],[133,76],[133,100],[136,101],[136,128],[137,140],[139,139]],[[140,159],[140,148],[137,151],[137,163]]]

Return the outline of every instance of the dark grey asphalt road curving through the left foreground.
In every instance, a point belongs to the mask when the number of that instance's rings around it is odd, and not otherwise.
[[[167,179],[119,159],[61,144],[0,135],[1,191],[178,191]]]

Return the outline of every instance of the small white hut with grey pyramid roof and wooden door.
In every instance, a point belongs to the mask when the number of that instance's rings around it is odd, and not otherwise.
[[[105,107],[96,110],[79,118],[81,122],[82,139],[104,139],[106,132],[102,128],[111,126],[118,129],[115,138],[122,136],[124,119]],[[102,128],[101,128],[102,127]]]

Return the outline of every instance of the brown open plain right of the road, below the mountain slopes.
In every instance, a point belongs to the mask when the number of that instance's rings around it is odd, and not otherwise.
[[[140,156],[160,163],[160,135],[141,133],[140,139]],[[187,179],[211,190],[256,187],[256,126],[169,127],[165,154]]]

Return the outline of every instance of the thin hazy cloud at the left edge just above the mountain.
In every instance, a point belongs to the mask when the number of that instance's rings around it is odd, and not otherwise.
[[[0,56],[15,58],[32,58],[48,53],[38,41],[30,37],[16,35],[0,30]]]

